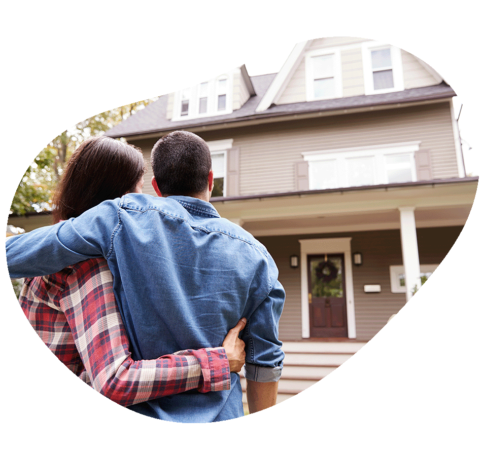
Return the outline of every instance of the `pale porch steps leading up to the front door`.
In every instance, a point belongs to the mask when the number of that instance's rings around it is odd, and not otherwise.
[[[284,368],[279,380],[277,403],[295,396],[319,382],[350,359],[366,342],[303,341],[283,342]],[[246,381],[240,375],[244,409],[248,412]]]

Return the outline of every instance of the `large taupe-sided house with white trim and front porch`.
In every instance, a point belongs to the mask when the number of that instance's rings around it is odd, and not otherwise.
[[[242,65],[107,132],[148,163],[171,131],[208,142],[211,202],[267,247],[286,289],[279,400],[371,339],[459,236],[477,178],[465,175],[455,96],[404,50],[329,37],[298,43],[276,74]]]

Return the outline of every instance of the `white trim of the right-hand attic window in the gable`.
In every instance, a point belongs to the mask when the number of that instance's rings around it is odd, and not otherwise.
[[[373,69],[371,67],[371,51],[381,48],[390,48],[390,54],[392,56],[392,74],[394,87],[389,89],[375,90],[373,86]],[[363,80],[365,86],[365,95],[399,92],[404,89],[402,53],[400,48],[377,41],[363,42],[361,44],[361,57],[363,61]]]

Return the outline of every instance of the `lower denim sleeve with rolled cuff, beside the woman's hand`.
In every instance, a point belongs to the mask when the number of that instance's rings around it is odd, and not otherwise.
[[[246,343],[245,377],[255,382],[277,382],[284,360],[279,340],[279,319],[286,293],[276,281],[269,295],[247,322],[242,339]]]

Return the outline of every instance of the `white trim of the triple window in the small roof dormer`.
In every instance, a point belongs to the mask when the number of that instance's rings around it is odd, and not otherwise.
[[[173,100],[173,116],[171,118],[172,122],[186,120],[186,119],[200,119],[204,117],[214,117],[222,116],[225,114],[230,114],[232,109],[233,100],[233,71],[221,74],[217,78],[210,79],[208,81],[203,81],[203,83],[208,83],[207,86],[207,111],[204,113],[198,112],[199,98],[200,98],[200,84],[190,87],[190,97],[188,102],[188,114],[185,116],[181,115],[182,110],[182,90],[175,92]],[[217,82],[221,79],[226,79],[226,98],[225,98],[225,109],[217,110]],[[202,84],[203,84],[202,83]],[[185,90],[185,89],[184,89]]]

